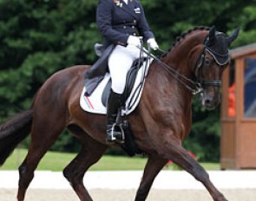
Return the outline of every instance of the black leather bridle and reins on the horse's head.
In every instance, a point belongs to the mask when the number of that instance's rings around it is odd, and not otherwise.
[[[186,75],[182,75],[180,72],[175,70],[173,67],[167,65],[166,63],[162,62],[161,59],[157,58],[156,56],[150,54],[150,48],[148,48],[148,51],[143,50],[144,53],[146,53],[148,56],[154,58],[155,62],[158,62],[161,65],[161,68],[164,68],[167,70],[167,73],[170,75],[173,75],[174,79],[179,81],[185,88],[187,88],[192,94],[199,94],[204,91],[205,87],[213,86],[213,87],[221,87],[222,81],[221,80],[205,80],[202,77],[202,68],[204,67],[205,61],[206,61],[206,51],[213,55],[214,61],[220,66],[225,66],[228,62],[228,59],[226,62],[221,63],[218,62],[216,57],[214,55],[218,55],[213,51],[213,49],[210,49],[207,47],[207,38],[203,42],[203,49],[201,50],[200,56],[195,64],[194,72],[195,72],[195,81],[188,78]],[[159,49],[161,50],[161,49]],[[164,52],[163,50],[161,50]],[[228,55],[228,54],[227,54]],[[220,56],[226,56],[226,55],[220,55]],[[178,76],[177,76],[178,75]]]

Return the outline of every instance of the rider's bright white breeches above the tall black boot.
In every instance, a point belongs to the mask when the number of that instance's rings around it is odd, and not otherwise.
[[[140,49],[134,45],[127,47],[117,45],[109,55],[108,68],[112,79],[112,90],[115,93],[123,93],[128,70],[138,58],[140,58]]]

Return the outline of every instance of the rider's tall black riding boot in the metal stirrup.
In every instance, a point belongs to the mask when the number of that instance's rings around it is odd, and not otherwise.
[[[124,136],[121,125],[116,124],[118,110],[121,107],[121,94],[116,94],[112,89],[107,102],[107,141],[123,143]]]

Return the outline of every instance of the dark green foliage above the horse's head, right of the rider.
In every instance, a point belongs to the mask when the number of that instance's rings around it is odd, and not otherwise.
[[[194,26],[213,25],[220,31],[229,32],[236,27],[241,31],[255,31],[255,3],[253,1],[186,1],[141,0],[145,5],[148,22],[161,47],[167,49],[176,36]],[[157,17],[156,17],[157,16]],[[255,36],[255,35],[254,35]],[[239,38],[233,47],[255,42],[255,37]],[[246,39],[246,38],[245,38]]]

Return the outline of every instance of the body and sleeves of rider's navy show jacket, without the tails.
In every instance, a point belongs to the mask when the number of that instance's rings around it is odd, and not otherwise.
[[[122,0],[99,0],[96,22],[106,40],[105,46],[127,46],[128,36],[131,35],[143,36],[144,41],[154,38],[138,0],[128,0],[128,4]]]

